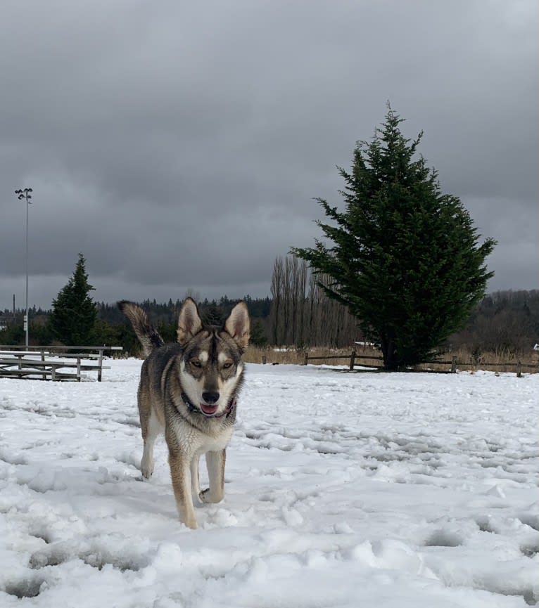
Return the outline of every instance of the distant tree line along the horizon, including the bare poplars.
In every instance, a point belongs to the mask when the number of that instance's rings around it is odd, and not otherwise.
[[[302,349],[348,348],[354,342],[364,342],[357,319],[346,306],[329,299],[319,285],[329,280],[327,276],[312,273],[305,260],[291,255],[277,257],[270,283],[271,297],[245,297],[252,321],[251,344]],[[90,292],[84,258],[80,258],[72,278],[54,300],[55,308],[30,309],[30,342],[45,346],[121,345],[128,354],[138,354],[139,342],[116,304],[96,302],[91,306]],[[72,297],[75,299],[71,300]],[[86,306],[80,306],[77,297],[86,301]],[[206,323],[219,325],[235,303],[236,300],[223,296],[203,299],[199,308]],[[163,338],[173,342],[182,301],[146,299],[140,304]],[[68,315],[57,312],[54,322],[53,310],[59,305],[71,312]],[[72,316],[73,309],[85,309],[89,320],[81,321],[78,316]],[[13,311],[5,313],[12,316]],[[1,344],[24,344],[23,311],[15,313],[21,321],[0,331]],[[58,319],[63,321],[58,323]],[[77,334],[70,330],[71,322],[76,326]],[[86,328],[85,335],[81,334],[82,328]],[[466,348],[476,356],[483,353],[528,354],[536,342],[539,342],[539,290],[508,290],[483,297],[464,328],[450,335],[440,344],[440,349]]]

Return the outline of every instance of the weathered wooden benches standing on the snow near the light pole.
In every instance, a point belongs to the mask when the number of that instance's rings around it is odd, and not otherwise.
[[[65,352],[66,349],[75,352]],[[34,380],[81,381],[83,372],[97,372],[101,382],[103,351],[121,351],[122,347],[3,347],[0,346],[0,377]]]

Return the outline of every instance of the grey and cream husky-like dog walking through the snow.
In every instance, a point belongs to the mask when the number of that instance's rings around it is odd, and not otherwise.
[[[243,384],[242,355],[250,334],[245,302],[234,306],[222,328],[204,325],[193,299],[179,311],[177,343],[165,344],[137,304],[118,308],[131,322],[146,357],[137,402],[144,450],[141,473],[153,473],[153,444],[165,434],[172,488],[180,521],[196,529],[193,499],[219,503],[224,463]],[[198,460],[205,454],[209,488],[201,491]],[[197,505],[198,506],[198,505]]]

